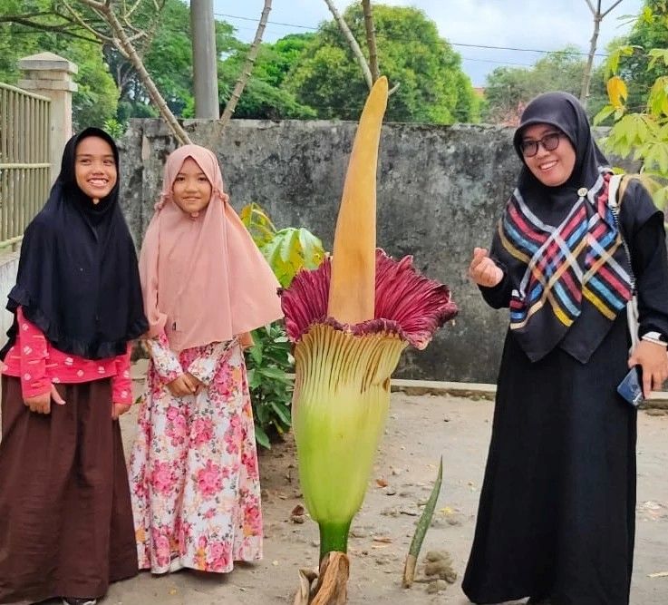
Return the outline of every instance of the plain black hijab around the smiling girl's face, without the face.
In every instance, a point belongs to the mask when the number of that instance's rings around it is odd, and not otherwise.
[[[88,137],[109,143],[118,170],[118,148],[106,132],[87,128],[67,142],[49,199],[25,229],[7,309],[23,307],[58,350],[102,359],[124,353],[148,322],[134,244],[118,203],[120,174],[97,204],[76,182],[76,148]],[[0,358],[15,343],[16,330],[15,320]]]

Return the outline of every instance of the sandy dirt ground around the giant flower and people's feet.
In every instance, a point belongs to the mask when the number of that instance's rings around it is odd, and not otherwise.
[[[353,522],[350,540],[350,603],[412,605],[469,601],[460,577],[436,594],[416,583],[400,586],[403,560],[420,509],[443,455],[443,488],[435,520],[422,554],[449,551],[460,576],[469,554],[474,515],[489,444],[493,405],[457,397],[392,395],[391,417],[383,437],[362,512]],[[123,419],[126,444],[133,418]],[[640,415],[638,447],[638,535],[632,605],[665,605],[668,577],[668,415]],[[265,605],[292,603],[297,569],[313,566],[317,526],[290,521],[302,503],[292,441],[276,445],[260,460],[265,515],[265,559],[238,565],[228,576],[208,577],[180,571],[163,577],[141,573],[111,587],[104,605]],[[382,487],[376,479],[387,483]],[[422,565],[419,567],[421,571]]]

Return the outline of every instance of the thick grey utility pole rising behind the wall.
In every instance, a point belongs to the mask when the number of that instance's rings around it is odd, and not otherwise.
[[[218,120],[218,54],[213,0],[190,0],[195,117]]]

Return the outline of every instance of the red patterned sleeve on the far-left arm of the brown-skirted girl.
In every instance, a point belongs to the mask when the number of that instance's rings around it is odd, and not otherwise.
[[[46,374],[48,351],[44,333],[24,317],[23,309],[16,310],[18,345],[21,356],[21,390],[24,398],[44,395],[51,390]]]

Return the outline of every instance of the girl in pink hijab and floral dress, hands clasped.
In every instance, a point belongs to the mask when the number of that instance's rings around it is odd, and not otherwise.
[[[242,349],[283,314],[211,151],[169,155],[140,278],[151,357],[130,463],[140,569],[231,571],[262,556]]]

